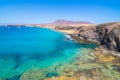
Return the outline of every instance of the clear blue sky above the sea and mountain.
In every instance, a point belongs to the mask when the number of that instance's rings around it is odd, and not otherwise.
[[[57,19],[120,21],[120,0],[0,0],[0,23],[41,24]]]

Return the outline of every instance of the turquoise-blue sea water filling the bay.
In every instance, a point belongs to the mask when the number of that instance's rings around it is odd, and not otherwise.
[[[44,69],[72,60],[79,49],[94,48],[78,44],[68,35],[36,27],[0,27],[0,79],[20,76],[26,70]],[[17,79],[16,79],[17,80]]]

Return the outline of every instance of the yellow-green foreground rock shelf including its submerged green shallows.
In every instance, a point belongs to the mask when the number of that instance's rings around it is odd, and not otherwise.
[[[20,80],[119,80],[120,58],[103,47],[95,48],[87,54],[77,55],[70,63],[54,64],[47,69],[28,70]],[[80,50],[80,51],[81,51]],[[104,54],[103,54],[104,53]],[[116,53],[116,52],[115,52]],[[51,70],[48,72],[48,70]],[[55,72],[53,72],[55,71]],[[49,74],[47,74],[49,73]]]

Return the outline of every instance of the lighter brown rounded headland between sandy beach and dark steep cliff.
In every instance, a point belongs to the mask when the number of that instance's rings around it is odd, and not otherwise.
[[[73,36],[83,41],[98,42],[98,34],[95,26],[80,26],[76,28]]]

